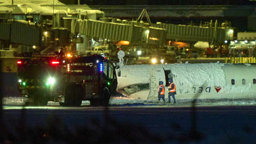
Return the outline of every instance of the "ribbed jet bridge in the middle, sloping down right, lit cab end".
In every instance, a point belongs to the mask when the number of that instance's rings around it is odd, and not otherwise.
[[[64,19],[72,20],[75,19]],[[65,23],[65,22],[64,22]],[[72,22],[74,25],[74,22]],[[65,26],[64,26],[65,27]],[[84,34],[89,37],[110,39],[115,41],[142,42],[147,45],[163,46],[165,41],[165,29],[156,27],[137,26],[133,23],[119,24],[96,20],[76,20],[76,24],[71,26],[73,33]]]

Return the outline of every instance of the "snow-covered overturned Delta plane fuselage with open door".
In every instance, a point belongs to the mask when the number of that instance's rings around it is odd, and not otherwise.
[[[120,66],[117,92],[134,99],[157,99],[159,81],[168,96],[168,79],[176,99],[256,98],[256,64],[177,63]]]

